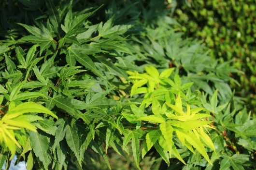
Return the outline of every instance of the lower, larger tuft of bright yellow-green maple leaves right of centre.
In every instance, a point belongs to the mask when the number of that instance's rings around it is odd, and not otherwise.
[[[166,112],[168,110],[166,105],[163,104],[161,107],[160,103],[156,99],[153,99],[151,109],[154,115],[142,116],[138,120],[159,123],[159,129],[161,132],[158,137],[159,145],[169,152],[169,158],[171,158],[171,155],[173,155],[185,164],[185,161],[179,154],[172,141],[172,133],[176,132],[176,135],[183,146],[186,146],[192,153],[195,154],[192,148],[192,146],[194,146],[211,164],[204,146],[211,148],[213,151],[215,151],[215,147],[210,137],[205,134],[203,130],[203,127],[209,127],[208,124],[210,124],[211,121],[200,120],[202,118],[209,117],[210,115],[198,113],[204,108],[190,109],[189,105],[187,105],[186,111],[183,111],[183,104],[180,94],[176,98],[175,105],[168,103],[166,104],[173,109],[173,111],[175,111],[176,115]],[[167,118],[164,116],[164,114],[167,116]],[[156,130],[152,130],[150,133],[154,133],[154,131]],[[152,146],[152,142],[150,142],[151,139],[149,138],[150,133],[146,135],[146,141],[147,145]],[[144,155],[146,151],[147,149],[145,149],[143,146],[142,154]],[[163,155],[162,157],[165,156],[164,152],[161,154]]]

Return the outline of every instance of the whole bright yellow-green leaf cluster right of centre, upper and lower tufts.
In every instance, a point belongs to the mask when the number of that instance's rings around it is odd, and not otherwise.
[[[166,163],[170,164],[169,158],[172,158],[172,155],[174,155],[174,157],[178,158],[185,164],[185,161],[178,153],[175,143],[173,142],[173,133],[175,133],[177,139],[183,146],[186,146],[191,150],[191,152],[195,153],[192,148],[193,146],[210,164],[212,164],[204,148],[207,146],[212,150],[215,150],[212,140],[204,132],[205,127],[210,127],[208,124],[211,121],[204,121],[203,119],[205,117],[210,117],[210,115],[199,113],[203,108],[190,109],[188,104],[185,105],[186,111],[183,109],[180,92],[189,88],[192,84],[186,83],[185,85],[182,85],[180,77],[177,74],[174,76],[174,83],[168,78],[173,69],[164,70],[159,74],[155,67],[146,66],[145,71],[146,73],[129,72],[129,78],[135,79],[133,86],[131,87],[131,95],[136,94],[136,92],[140,93],[138,89],[145,88],[144,100],[142,101],[140,108],[144,108],[144,106],[147,108],[152,103],[151,109],[153,114],[143,114],[143,111],[138,114],[137,110],[139,108],[132,109],[134,113],[133,119],[130,114],[123,114],[128,121],[137,124],[141,123],[140,128],[148,129],[146,130],[148,132],[145,138],[146,145],[143,146],[142,150],[142,158],[146,152],[156,144],[161,148],[161,150],[163,150],[161,152],[168,153],[168,155],[165,156],[167,157]],[[145,83],[140,84],[141,80],[144,80]],[[165,82],[171,83],[168,84]],[[142,87],[145,84],[147,87]],[[178,88],[178,86],[181,86],[181,88]],[[183,88],[183,86],[186,88]],[[159,93],[159,91],[161,93]],[[141,93],[143,93],[143,91]],[[175,99],[175,105],[173,105],[171,104],[173,98],[170,97],[170,94],[174,97],[175,93],[178,93],[178,95]],[[167,98],[167,100],[165,98]],[[162,105],[159,103],[158,99],[161,100],[161,103],[163,103]],[[142,127],[143,121],[148,122],[147,126],[149,127]],[[150,128],[150,126],[153,127]],[[161,155],[161,153],[159,154]]]

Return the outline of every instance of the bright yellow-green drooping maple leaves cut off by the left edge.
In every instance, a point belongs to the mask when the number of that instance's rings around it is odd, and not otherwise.
[[[20,138],[17,137],[17,135],[24,133],[24,129],[36,132],[36,126],[31,124],[31,122],[43,120],[43,118],[40,116],[26,113],[45,113],[55,118],[57,118],[57,116],[50,110],[44,108],[42,105],[33,102],[25,102],[19,104],[18,106],[15,106],[15,103],[12,102],[10,103],[8,109],[9,110],[6,112],[6,114],[0,119],[0,144],[3,147],[7,147],[11,151],[11,160],[14,157],[16,146],[21,148],[22,144],[20,144],[18,141],[27,141],[26,136],[21,136],[22,138]],[[15,137],[18,138],[18,141],[15,139]]]

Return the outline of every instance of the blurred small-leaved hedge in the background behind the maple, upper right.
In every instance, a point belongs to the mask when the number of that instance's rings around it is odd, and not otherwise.
[[[176,3],[175,3],[176,2]],[[232,75],[241,86],[236,94],[256,110],[256,1],[174,0],[173,16],[187,36],[198,37],[213,49],[212,57],[233,65],[244,74]]]

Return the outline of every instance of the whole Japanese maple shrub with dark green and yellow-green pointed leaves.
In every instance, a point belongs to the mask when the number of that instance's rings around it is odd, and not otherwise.
[[[239,71],[183,38],[168,5],[1,1],[0,167],[255,169]]]

